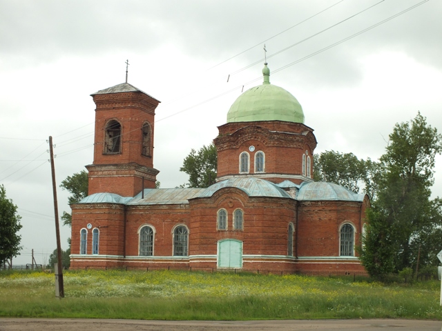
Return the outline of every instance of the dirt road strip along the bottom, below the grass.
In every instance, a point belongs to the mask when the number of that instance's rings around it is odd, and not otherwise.
[[[0,331],[304,331],[304,330],[434,330],[441,331],[442,321],[397,319],[358,319],[320,321],[138,321],[122,319],[0,319]]]

